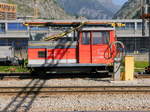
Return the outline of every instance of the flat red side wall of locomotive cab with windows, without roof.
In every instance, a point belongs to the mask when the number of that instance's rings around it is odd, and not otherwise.
[[[79,63],[106,63],[104,53],[109,44],[109,31],[80,33]]]

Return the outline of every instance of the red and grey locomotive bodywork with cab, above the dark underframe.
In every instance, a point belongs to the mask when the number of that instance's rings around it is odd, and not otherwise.
[[[76,41],[66,43],[31,43],[28,48],[28,66],[42,67],[44,65],[66,66],[99,66],[109,65],[114,62],[115,47],[110,44],[115,42],[115,31],[112,29],[81,30]],[[51,44],[50,44],[51,43]],[[113,52],[112,52],[113,51]],[[111,58],[108,58],[110,57]]]

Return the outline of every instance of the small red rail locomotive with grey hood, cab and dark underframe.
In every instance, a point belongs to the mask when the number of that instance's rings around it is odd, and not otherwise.
[[[30,41],[28,67],[41,71],[91,72],[112,67],[116,48],[112,27],[82,28],[78,37],[62,37],[53,41]],[[84,70],[85,69],[85,70]]]

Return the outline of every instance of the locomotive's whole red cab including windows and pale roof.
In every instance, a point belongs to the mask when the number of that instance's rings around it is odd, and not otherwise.
[[[109,45],[115,41],[114,33],[113,28],[82,29],[79,39],[79,63],[113,63],[113,58],[107,57],[110,55]]]

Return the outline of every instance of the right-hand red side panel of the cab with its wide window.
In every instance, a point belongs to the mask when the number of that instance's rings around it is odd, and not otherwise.
[[[93,31],[91,38],[92,63],[107,63],[108,45],[110,41],[110,31]],[[107,51],[106,51],[107,50]]]

